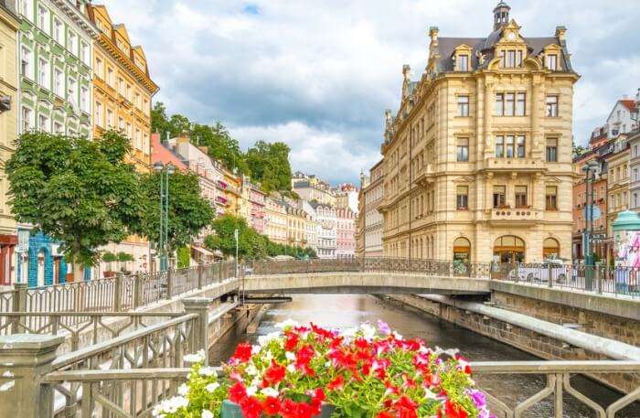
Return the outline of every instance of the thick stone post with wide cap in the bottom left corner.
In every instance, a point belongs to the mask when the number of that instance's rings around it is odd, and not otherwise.
[[[0,418],[53,416],[53,387],[42,383],[63,337],[0,336]]]

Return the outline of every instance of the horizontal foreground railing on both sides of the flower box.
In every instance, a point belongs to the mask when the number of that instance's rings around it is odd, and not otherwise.
[[[571,379],[577,375],[593,373],[638,373],[640,362],[619,360],[577,360],[577,361],[479,361],[472,363],[474,378],[480,389],[485,391],[492,413],[498,418],[521,418],[534,406],[540,407],[545,398],[552,402],[541,409],[544,416],[561,418],[566,408],[565,394],[589,408],[597,418],[614,418],[616,413],[640,399],[640,386],[625,394],[610,405],[601,405],[571,386]],[[57,386],[67,384],[82,388],[80,402],[82,416],[147,416],[153,402],[158,402],[176,394],[179,382],[187,380],[187,368],[144,368],[137,370],[69,370],[48,373],[44,380]],[[503,395],[486,391],[482,378],[487,375],[541,375],[545,386],[515,405],[501,401]],[[153,385],[155,390],[152,390]],[[161,385],[165,386],[161,386]],[[166,391],[160,388],[165,387]],[[68,412],[70,410],[67,410]],[[69,415],[67,415],[69,416]]]

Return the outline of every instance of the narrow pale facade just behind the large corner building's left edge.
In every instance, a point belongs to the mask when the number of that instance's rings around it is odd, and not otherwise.
[[[360,234],[362,248],[365,257],[381,257],[384,255],[382,248],[383,216],[379,211],[379,205],[384,198],[383,161],[380,160],[372,166],[369,174],[367,188],[362,193],[362,213],[358,218],[363,220],[364,232]]]

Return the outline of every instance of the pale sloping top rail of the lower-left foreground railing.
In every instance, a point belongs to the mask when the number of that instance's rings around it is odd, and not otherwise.
[[[94,344],[87,348],[80,348],[77,351],[73,351],[71,353],[60,356],[59,358],[53,360],[51,363],[52,370],[59,370],[64,367],[67,367],[73,363],[77,363],[84,359],[89,359],[91,356],[96,354],[100,354],[105,350],[112,348],[114,346],[119,346],[126,344],[130,341],[133,341],[138,338],[142,338],[148,335],[151,335],[157,331],[161,331],[163,329],[173,327],[175,325],[183,324],[192,319],[197,319],[197,314],[185,314],[183,316],[179,316],[168,321],[162,322],[160,324],[155,324],[149,327],[145,327],[142,329],[137,329],[129,334],[126,334],[122,337],[112,338],[108,341],[104,341],[98,344]]]

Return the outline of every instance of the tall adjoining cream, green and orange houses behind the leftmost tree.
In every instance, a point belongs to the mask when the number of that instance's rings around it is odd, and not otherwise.
[[[151,169],[151,79],[144,49],[88,0],[0,1],[0,158],[30,130],[99,137],[119,129],[131,140],[131,162]],[[0,285],[71,280],[59,243],[16,224],[0,168]],[[149,267],[138,237],[114,244]],[[87,269],[85,278],[94,272]],[[78,280],[80,278],[76,278]]]

